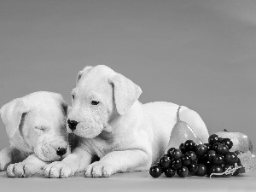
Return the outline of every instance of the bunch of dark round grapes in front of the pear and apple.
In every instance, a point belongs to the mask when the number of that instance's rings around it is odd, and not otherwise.
[[[235,164],[241,166],[237,155],[242,152],[230,152],[232,146],[229,138],[221,138],[216,134],[212,134],[208,138],[208,143],[204,144],[196,145],[193,140],[187,140],[181,143],[179,148],[169,148],[159,162],[150,167],[149,174],[152,177],[160,177],[162,173],[165,173],[166,177],[173,177],[176,173],[179,177],[186,177],[188,174],[202,177],[210,176],[212,173],[223,173],[229,167],[234,168]],[[241,167],[233,174],[224,174],[223,177],[236,176],[242,172]]]

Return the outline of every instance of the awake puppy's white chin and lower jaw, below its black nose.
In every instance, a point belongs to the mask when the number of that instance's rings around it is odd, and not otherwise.
[[[79,125],[77,125],[77,129],[73,133],[79,137],[94,138],[100,135],[102,131],[103,125],[89,127],[86,123],[79,123]]]

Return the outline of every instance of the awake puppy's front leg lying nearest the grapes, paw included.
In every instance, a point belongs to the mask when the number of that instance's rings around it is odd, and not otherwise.
[[[116,172],[143,171],[150,165],[150,156],[142,150],[113,151],[100,161],[90,164],[85,177],[109,177]]]

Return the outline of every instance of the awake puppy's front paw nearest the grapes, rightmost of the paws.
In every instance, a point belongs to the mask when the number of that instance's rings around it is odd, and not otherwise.
[[[105,162],[96,161],[87,167],[85,177],[109,177],[113,173],[112,165]]]

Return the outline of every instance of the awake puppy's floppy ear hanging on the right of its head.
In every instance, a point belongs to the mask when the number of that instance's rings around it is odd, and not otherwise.
[[[109,83],[113,84],[114,102],[121,115],[131,108],[143,92],[137,84],[119,73],[110,78]]]

